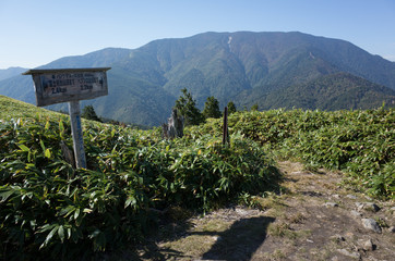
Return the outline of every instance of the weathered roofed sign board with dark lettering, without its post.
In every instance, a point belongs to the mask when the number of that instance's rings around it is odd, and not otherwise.
[[[106,72],[110,67],[29,70],[38,107],[94,99],[108,95]]]

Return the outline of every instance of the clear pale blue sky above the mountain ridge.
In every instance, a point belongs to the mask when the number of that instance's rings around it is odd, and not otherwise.
[[[395,0],[0,0],[0,69],[205,32],[302,32],[395,61]]]

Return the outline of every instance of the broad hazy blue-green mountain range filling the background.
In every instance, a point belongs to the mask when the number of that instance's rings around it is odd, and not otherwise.
[[[56,60],[41,69],[111,66],[109,95],[83,101],[97,114],[159,125],[180,89],[200,108],[208,96],[224,107],[368,109],[395,104],[395,63],[345,40],[302,33],[204,33],[154,40],[137,49],[107,48]],[[33,82],[0,82],[0,95],[34,103]],[[51,105],[52,109],[64,104]]]

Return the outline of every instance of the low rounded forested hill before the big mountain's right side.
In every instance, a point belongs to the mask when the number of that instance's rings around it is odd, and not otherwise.
[[[394,107],[395,91],[348,73],[334,73],[307,83],[290,82],[258,102],[261,109],[367,110],[380,108],[383,102]]]

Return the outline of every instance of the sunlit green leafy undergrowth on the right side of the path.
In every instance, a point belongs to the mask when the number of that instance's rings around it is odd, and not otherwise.
[[[229,132],[240,132],[279,158],[311,167],[342,170],[345,182],[375,197],[395,198],[395,110],[272,110],[235,113]],[[199,132],[219,135],[219,121]]]

